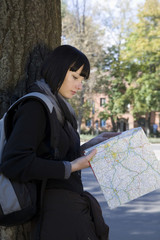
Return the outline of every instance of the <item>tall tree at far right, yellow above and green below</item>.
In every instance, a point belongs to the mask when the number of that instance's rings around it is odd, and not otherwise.
[[[151,111],[160,111],[159,36],[160,2],[146,0],[121,53],[130,84],[126,99],[130,99],[135,117],[146,115],[146,132],[151,128]]]

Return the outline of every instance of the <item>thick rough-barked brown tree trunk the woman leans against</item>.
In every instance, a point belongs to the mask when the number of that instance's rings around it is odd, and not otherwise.
[[[60,39],[60,0],[1,0],[0,116],[40,78],[44,57]],[[29,223],[1,227],[0,240],[28,240],[29,232]]]

